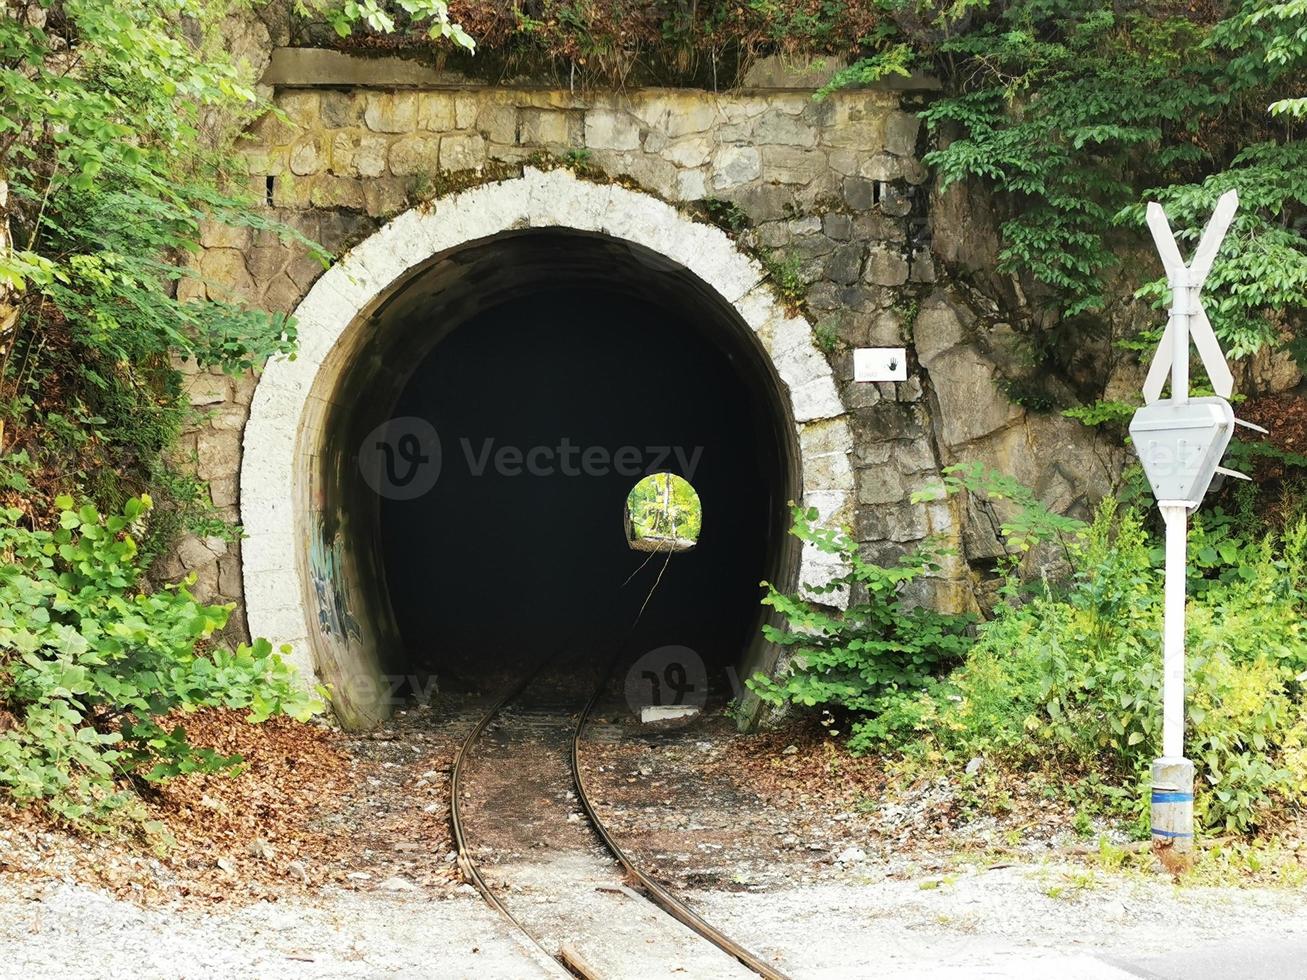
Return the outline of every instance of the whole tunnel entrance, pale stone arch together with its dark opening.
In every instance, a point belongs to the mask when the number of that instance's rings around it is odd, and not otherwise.
[[[719,686],[771,670],[759,581],[839,572],[787,533],[787,502],[850,523],[855,498],[831,368],[762,280],[719,229],[563,170],[391,221],[314,284],[298,357],[255,391],[250,632],[346,728],[433,673],[563,645],[687,647]],[[656,524],[633,545],[648,473],[693,485],[693,547]]]

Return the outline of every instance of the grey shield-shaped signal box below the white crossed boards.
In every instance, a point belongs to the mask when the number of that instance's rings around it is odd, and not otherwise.
[[[1234,410],[1221,397],[1154,401],[1134,413],[1131,438],[1158,500],[1197,507],[1234,434]]]

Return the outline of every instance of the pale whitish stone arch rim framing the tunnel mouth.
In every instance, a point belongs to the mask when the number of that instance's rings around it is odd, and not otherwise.
[[[399,216],[327,270],[294,316],[299,353],[267,365],[244,430],[240,516],[244,601],[250,632],[290,644],[305,679],[339,682],[324,670],[320,596],[307,566],[303,511],[320,426],[323,378],[333,359],[352,357],[352,325],[434,257],[521,229],[561,229],[629,242],[681,267],[711,287],[748,324],[782,382],[796,426],[802,499],[825,521],[852,523],[852,433],[831,368],[812,328],[791,316],[763,282],[762,267],[718,227],[695,221],[650,195],[584,180],[569,170],[528,167],[523,176],[484,184]],[[342,354],[344,351],[344,354]],[[325,367],[324,367],[325,366]],[[834,568],[805,549],[799,580],[821,583]]]

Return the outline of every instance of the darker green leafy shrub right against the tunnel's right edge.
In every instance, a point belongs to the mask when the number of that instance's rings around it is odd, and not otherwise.
[[[895,566],[868,562],[846,533],[816,527],[817,511],[796,507],[792,532],[800,541],[839,559],[847,571],[829,583],[789,596],[767,585],[763,602],[786,621],[765,626],[769,640],[786,648],[787,665],[776,678],[757,674],[749,689],[772,704],[822,706],[877,715],[886,706],[932,682],[967,647],[967,617],[946,615],[904,600],[907,585],[938,571],[928,549]],[[823,596],[846,592],[848,608],[835,612]],[[855,740],[857,728],[855,725]],[[859,745],[855,741],[855,747]]]

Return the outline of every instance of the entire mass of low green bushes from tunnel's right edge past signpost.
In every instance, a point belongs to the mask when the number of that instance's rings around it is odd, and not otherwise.
[[[1080,804],[1145,814],[1140,791],[1162,730],[1161,542],[1114,498],[1086,525],[975,464],[949,468],[919,499],[957,493],[1010,504],[1001,601],[974,642],[963,618],[904,606],[902,588],[932,568],[929,550],[870,564],[846,534],[813,527],[813,511],[796,511],[793,533],[851,568],[817,592],[867,598],[842,614],[770,588],[763,601],[789,630],[767,636],[791,651],[789,669],[750,689],[852,713],[855,753],[958,768],[984,757],[1056,774],[1068,792],[1078,784]],[[1255,830],[1307,804],[1307,517],[1255,528],[1217,510],[1189,540],[1185,750],[1197,766],[1195,811],[1210,830]],[[1052,541],[1068,576],[1023,581],[1021,555]]]

